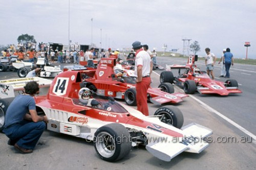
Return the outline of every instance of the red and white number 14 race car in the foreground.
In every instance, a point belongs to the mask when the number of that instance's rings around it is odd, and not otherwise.
[[[0,84],[0,91],[10,86],[8,82]],[[91,98],[83,103],[79,100],[81,84],[79,71],[60,73],[46,95],[34,97],[36,110],[38,114],[47,115],[48,130],[93,140],[103,160],[117,161],[136,145],[145,145],[148,152],[164,161],[182,152],[200,153],[209,146],[203,138],[212,131],[195,123],[182,127],[182,113],[174,106],[161,107],[154,116],[145,116],[113,98]],[[8,95],[3,98],[0,99],[0,128],[13,99]]]

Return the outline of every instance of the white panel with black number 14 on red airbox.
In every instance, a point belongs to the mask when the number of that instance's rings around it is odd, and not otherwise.
[[[57,78],[52,92],[57,95],[65,95],[67,93],[68,84],[69,78]]]

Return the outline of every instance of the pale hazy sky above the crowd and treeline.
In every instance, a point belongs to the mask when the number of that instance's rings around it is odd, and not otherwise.
[[[166,44],[166,51],[178,49],[183,54],[182,39],[191,39],[190,44],[199,42],[198,55],[205,56],[209,47],[221,57],[223,48],[229,47],[234,57],[245,58],[244,44],[249,41],[248,58],[256,59],[254,0],[0,0],[0,4],[0,45],[17,44],[19,35],[29,34],[37,42],[68,45],[71,40],[113,50],[132,47],[138,40],[150,50],[163,51]]]

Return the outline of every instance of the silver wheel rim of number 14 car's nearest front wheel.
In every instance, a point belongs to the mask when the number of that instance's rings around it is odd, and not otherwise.
[[[98,153],[105,158],[110,158],[115,154],[116,144],[113,136],[108,132],[100,132],[97,135],[95,146]]]

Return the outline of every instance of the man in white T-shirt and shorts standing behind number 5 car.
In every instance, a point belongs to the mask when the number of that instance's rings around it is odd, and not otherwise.
[[[214,80],[214,64],[216,62],[216,56],[213,53],[210,53],[210,48],[205,48],[207,56],[205,57],[205,65],[207,75]]]

